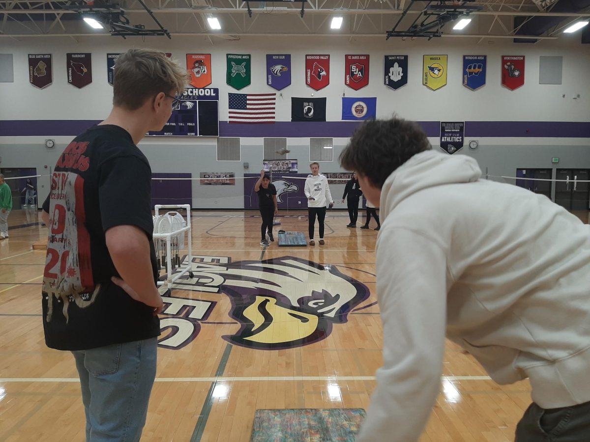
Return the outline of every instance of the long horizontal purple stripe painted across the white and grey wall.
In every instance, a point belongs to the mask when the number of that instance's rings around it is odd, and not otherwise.
[[[0,136],[76,136],[99,120],[1,120]],[[357,121],[229,124],[219,121],[222,137],[350,137]],[[429,137],[440,135],[439,121],[419,121]],[[466,121],[466,137],[590,138],[590,122]]]

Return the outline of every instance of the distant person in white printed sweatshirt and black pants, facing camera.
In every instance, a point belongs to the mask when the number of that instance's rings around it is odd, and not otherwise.
[[[307,197],[307,215],[309,215],[309,245],[316,245],[313,239],[314,230],[317,223],[320,230],[320,245],[324,245],[324,218],[326,217],[326,204],[330,205],[330,209],[334,205],[332,194],[330,193],[330,186],[328,179],[320,175],[319,163],[312,163],[309,165],[312,169],[312,174],[307,175],[305,180],[305,196]]]

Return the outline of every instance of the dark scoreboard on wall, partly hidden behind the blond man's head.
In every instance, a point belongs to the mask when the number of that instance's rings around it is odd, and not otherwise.
[[[149,131],[148,136],[218,137],[219,89],[185,89],[168,123],[160,131]]]

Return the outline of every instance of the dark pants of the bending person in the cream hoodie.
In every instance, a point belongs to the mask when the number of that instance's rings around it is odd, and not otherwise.
[[[590,402],[544,410],[532,403],[516,425],[515,442],[588,442]]]

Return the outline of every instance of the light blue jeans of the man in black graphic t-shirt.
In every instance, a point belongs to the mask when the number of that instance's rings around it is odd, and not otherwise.
[[[87,442],[136,442],[156,378],[157,338],[73,351]]]

